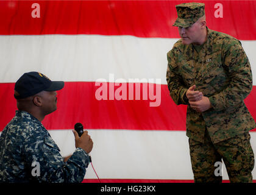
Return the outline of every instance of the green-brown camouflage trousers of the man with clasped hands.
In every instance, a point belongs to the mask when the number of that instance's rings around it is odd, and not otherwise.
[[[231,183],[252,183],[254,152],[250,138],[249,132],[246,132],[213,144],[208,131],[205,130],[204,143],[189,139],[194,182],[221,183],[222,176],[216,174],[215,163],[221,162],[222,159]]]

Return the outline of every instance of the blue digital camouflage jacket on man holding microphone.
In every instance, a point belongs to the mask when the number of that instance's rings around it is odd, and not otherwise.
[[[34,175],[33,162],[40,168]],[[79,147],[64,162],[49,132],[27,112],[17,110],[1,133],[0,182],[82,182],[88,164],[87,153]]]

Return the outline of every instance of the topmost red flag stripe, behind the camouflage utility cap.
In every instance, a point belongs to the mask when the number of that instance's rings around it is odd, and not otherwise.
[[[186,1],[191,2],[191,1]],[[255,1],[205,3],[207,26],[239,40],[256,40]],[[175,5],[183,1],[38,1],[40,18],[33,18],[34,1],[1,1],[1,35],[100,34],[179,38]],[[216,4],[222,4],[223,18]],[[217,5],[216,5],[217,6]],[[37,13],[38,14],[38,13]]]

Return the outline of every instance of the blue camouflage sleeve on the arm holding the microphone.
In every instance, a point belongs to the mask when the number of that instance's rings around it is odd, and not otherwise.
[[[39,166],[39,172],[31,175],[31,179],[38,182],[82,182],[90,163],[87,153],[79,147],[68,161],[63,161],[59,147],[50,136],[29,137],[24,141],[23,150],[29,171],[32,173],[36,168],[33,162]]]

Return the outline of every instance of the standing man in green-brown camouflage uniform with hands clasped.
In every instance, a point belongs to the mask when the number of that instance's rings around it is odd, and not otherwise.
[[[255,121],[244,104],[252,90],[249,60],[239,40],[208,29],[204,4],[176,5],[181,39],[168,52],[166,80],[173,101],[188,105],[194,182],[221,182],[224,161],[230,182],[252,182]]]

